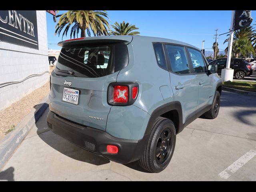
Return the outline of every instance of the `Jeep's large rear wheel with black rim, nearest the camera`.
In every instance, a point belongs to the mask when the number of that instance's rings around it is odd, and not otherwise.
[[[175,143],[176,130],[174,123],[167,118],[156,118],[146,149],[138,160],[140,166],[152,173],[161,172],[168,166],[172,158]]]

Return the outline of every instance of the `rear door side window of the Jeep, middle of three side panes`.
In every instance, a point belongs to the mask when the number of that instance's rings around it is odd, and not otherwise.
[[[188,65],[188,58],[186,56],[185,48],[176,45],[165,45],[170,59],[172,72],[178,74],[189,74],[190,68]]]

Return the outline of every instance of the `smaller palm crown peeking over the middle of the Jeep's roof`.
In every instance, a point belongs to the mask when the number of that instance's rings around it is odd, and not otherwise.
[[[140,32],[138,31],[133,31],[133,30],[139,29],[135,25],[131,25],[131,24],[129,25],[129,23],[125,23],[124,21],[120,24],[118,22],[115,22],[114,24],[115,25],[111,25],[111,26],[116,31],[111,32],[110,35],[139,35],[140,34]]]

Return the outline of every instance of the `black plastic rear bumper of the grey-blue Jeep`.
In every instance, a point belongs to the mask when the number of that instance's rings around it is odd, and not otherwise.
[[[52,132],[73,144],[122,164],[138,160],[142,156],[148,141],[147,136],[144,136],[141,140],[116,138],[102,130],[70,122],[51,111],[48,112],[47,124]],[[108,144],[118,146],[118,153],[108,153]]]

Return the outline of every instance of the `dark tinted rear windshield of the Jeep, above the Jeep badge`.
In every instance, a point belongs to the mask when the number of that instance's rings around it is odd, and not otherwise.
[[[125,44],[73,45],[60,51],[54,72],[64,76],[102,77],[120,71],[128,65]]]

